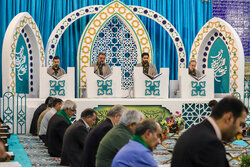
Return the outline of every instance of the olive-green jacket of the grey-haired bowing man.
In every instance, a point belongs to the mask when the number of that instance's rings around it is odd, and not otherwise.
[[[119,124],[111,129],[101,140],[96,154],[96,167],[110,167],[116,153],[129,142],[132,131]]]

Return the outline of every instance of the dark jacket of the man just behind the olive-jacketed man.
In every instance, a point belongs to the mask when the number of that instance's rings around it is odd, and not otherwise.
[[[84,152],[82,156],[83,167],[95,167],[95,159],[99,143],[106,133],[112,129],[112,127],[113,124],[111,120],[107,118],[90,131],[85,141]]]

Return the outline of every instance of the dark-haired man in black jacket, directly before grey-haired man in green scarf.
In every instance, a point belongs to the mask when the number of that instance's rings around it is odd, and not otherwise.
[[[80,167],[84,141],[90,127],[95,124],[96,115],[95,110],[87,108],[81,113],[81,118],[68,127],[63,137],[61,165]]]

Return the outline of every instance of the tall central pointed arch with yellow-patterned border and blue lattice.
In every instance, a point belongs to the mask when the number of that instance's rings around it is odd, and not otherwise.
[[[117,27],[117,23],[114,22],[115,20],[124,28]],[[112,28],[111,31],[107,36],[104,36],[104,40],[100,40],[100,38],[105,35],[104,32],[110,29],[107,29],[107,27]],[[117,40],[118,43],[111,46],[114,42],[109,38]],[[129,39],[132,39],[132,45]],[[94,45],[96,41],[100,41],[101,45]],[[109,41],[112,42],[109,43]],[[116,54],[112,54],[116,51]],[[140,55],[143,52],[150,53],[150,61],[152,60],[152,44],[145,26],[128,6],[118,0],[110,2],[100,10],[90,20],[88,27],[82,34],[78,46],[78,55],[81,60],[78,63],[80,65],[80,67],[78,67],[78,72],[80,77],[79,80],[82,83],[81,87],[85,86],[84,82],[82,82],[86,80],[86,78],[83,77],[85,75],[85,66],[88,67],[93,61],[96,61],[97,55],[100,52],[106,53],[106,61],[108,64],[112,65],[112,61],[115,61],[114,65],[122,66],[123,90],[127,90],[133,85],[133,66],[141,61]],[[91,56],[94,56],[94,58],[91,58]],[[83,61],[86,57],[90,58],[90,61],[87,63]],[[119,64],[119,62],[122,64]]]

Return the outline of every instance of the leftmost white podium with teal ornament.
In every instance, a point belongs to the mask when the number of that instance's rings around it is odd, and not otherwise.
[[[56,79],[47,73],[47,67],[40,68],[40,98],[54,96],[58,98],[75,98],[75,68],[68,67],[67,74]]]

